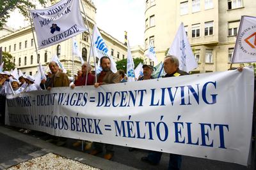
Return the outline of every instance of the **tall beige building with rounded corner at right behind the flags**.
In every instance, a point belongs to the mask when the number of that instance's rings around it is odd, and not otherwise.
[[[256,16],[255,8],[255,0],[145,0],[145,51],[153,41],[157,59],[163,60],[183,22],[198,60],[193,73],[225,71],[241,16]]]

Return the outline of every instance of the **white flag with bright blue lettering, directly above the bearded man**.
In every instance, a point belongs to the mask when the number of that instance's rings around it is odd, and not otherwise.
[[[104,39],[102,38],[96,24],[93,27],[92,43],[93,43],[93,46],[91,46],[91,48],[90,48],[90,57],[93,57],[93,53],[94,53],[95,57],[98,57],[99,60],[103,56],[109,57],[110,62],[111,62],[110,69],[113,73],[116,73],[116,71],[117,71],[116,62],[113,59],[113,57],[111,55],[109,55],[108,47],[107,47],[106,43],[104,42]]]

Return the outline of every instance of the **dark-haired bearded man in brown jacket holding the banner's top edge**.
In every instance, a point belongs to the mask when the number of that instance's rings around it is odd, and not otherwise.
[[[111,61],[109,57],[101,57],[100,58],[100,66],[102,67],[102,71],[97,75],[97,83],[94,84],[94,87],[99,87],[100,85],[108,85],[112,83],[119,83],[119,74],[113,73],[110,69]],[[91,155],[97,155],[103,150],[103,143],[94,143],[95,149],[90,152]],[[106,154],[104,155],[104,159],[110,160],[113,157],[113,145],[105,144]]]

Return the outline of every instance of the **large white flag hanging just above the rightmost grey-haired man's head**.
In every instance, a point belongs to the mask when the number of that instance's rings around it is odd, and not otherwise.
[[[189,45],[183,23],[180,24],[179,30],[168,51],[168,55],[175,55],[179,59],[179,68],[182,71],[189,72],[198,66],[191,46]]]

